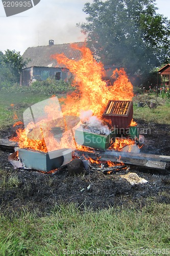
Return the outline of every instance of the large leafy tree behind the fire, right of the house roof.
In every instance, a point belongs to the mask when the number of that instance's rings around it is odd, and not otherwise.
[[[105,65],[131,75],[150,72],[170,56],[170,21],[158,14],[155,0],[93,0],[79,24],[89,47]]]

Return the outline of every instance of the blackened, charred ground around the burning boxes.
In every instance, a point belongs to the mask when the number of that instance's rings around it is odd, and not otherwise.
[[[170,156],[170,125],[156,123],[141,123],[145,145],[141,152]],[[151,132],[150,132],[151,131]],[[0,132],[0,137],[11,135],[11,129]],[[148,181],[145,184],[131,185],[120,175],[127,170],[119,170],[112,175],[104,175],[97,166],[84,174],[70,175],[67,167],[55,174],[43,174],[35,170],[14,169],[7,161],[9,151],[0,150],[0,204],[1,211],[6,214],[19,212],[23,208],[38,215],[46,214],[61,203],[75,203],[78,206],[92,209],[108,208],[109,206],[140,208],[151,200],[169,203],[170,171],[160,171],[130,166],[129,172],[136,173]],[[95,168],[94,168],[95,167]],[[10,177],[17,177],[18,184],[10,185]],[[90,189],[87,187],[90,186]],[[84,190],[82,191],[82,189]]]

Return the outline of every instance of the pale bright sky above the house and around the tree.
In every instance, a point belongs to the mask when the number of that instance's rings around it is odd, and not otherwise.
[[[0,0],[0,51],[15,50],[22,55],[28,47],[48,45],[50,39],[54,44],[84,41],[76,24],[85,22],[82,9],[87,2],[92,0],[41,0],[25,12],[6,17]],[[156,4],[158,13],[170,19],[170,0],[156,0]]]

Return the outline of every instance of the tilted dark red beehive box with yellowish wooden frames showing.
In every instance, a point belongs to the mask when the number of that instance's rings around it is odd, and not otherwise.
[[[127,129],[133,118],[132,101],[109,100],[103,118],[111,120],[113,127]]]

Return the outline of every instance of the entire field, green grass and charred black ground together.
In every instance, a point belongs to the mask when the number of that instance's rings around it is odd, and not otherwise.
[[[0,138],[11,135],[24,110],[48,97],[1,92]],[[145,131],[141,152],[170,155],[170,101],[158,99],[156,109],[137,108],[137,101],[134,119]],[[9,154],[0,150],[0,255],[170,255],[168,170],[131,166],[130,172],[148,180],[131,185],[120,178],[124,170],[113,175],[15,170]]]

